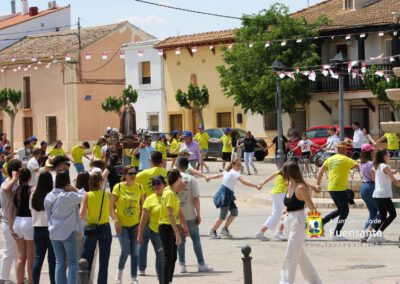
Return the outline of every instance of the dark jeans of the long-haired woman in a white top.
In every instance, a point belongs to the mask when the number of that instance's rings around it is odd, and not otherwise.
[[[40,274],[44,258],[47,251],[47,261],[49,263],[50,283],[55,284],[56,257],[54,256],[53,246],[51,245],[48,227],[34,227],[33,239],[35,241],[35,261],[33,262],[33,284],[40,283]]]

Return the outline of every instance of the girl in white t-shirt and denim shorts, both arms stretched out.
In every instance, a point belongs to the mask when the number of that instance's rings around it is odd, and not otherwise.
[[[229,233],[228,227],[232,224],[235,217],[238,215],[238,209],[235,204],[235,186],[238,181],[248,187],[254,187],[258,190],[261,189],[261,185],[257,185],[245,180],[241,174],[240,169],[242,168],[242,163],[240,159],[236,159],[228,166],[228,168],[217,175],[209,176],[208,180],[222,178],[222,185],[218,192],[214,196],[214,204],[217,208],[220,208],[221,212],[219,218],[215,221],[213,227],[209,232],[209,236],[212,239],[218,239],[217,230],[225,221],[225,225],[222,228],[221,234],[229,239],[233,236]],[[229,216],[228,213],[230,212]],[[228,216],[228,218],[227,218]]]

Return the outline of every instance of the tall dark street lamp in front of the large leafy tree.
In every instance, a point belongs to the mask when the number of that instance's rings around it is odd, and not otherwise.
[[[285,69],[285,65],[275,60],[272,65],[272,69],[275,72],[282,71]],[[278,163],[278,168],[283,166],[285,161],[284,152],[283,152],[283,129],[282,129],[282,86],[281,86],[281,78],[276,76],[276,97],[275,97],[275,104],[276,104],[276,121],[277,121],[277,128],[278,128],[278,151],[276,152],[276,160]]]

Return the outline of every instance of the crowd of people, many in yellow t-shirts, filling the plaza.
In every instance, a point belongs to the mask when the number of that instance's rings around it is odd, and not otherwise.
[[[358,125],[354,124],[354,127]],[[196,177],[201,177],[207,182],[222,179],[213,198],[220,212],[210,228],[211,239],[233,238],[229,228],[238,216],[235,203],[238,181],[246,187],[261,190],[274,180],[272,213],[256,238],[268,241],[265,233],[274,231],[279,225],[274,237],[288,241],[281,282],[293,283],[299,265],[307,281],[321,283],[303,243],[305,207],[316,210],[310,190],[321,191],[326,172],[329,173],[328,191],[337,210],[324,216],[322,225],[339,218],[333,241],[347,240],[341,230],[349,214],[347,181],[353,168],[360,171],[361,197],[369,212],[362,241],[384,242],[383,232],[396,218],[391,186],[392,183],[400,186],[400,180],[389,166],[391,154],[386,149],[376,150],[373,159],[375,141],[372,138],[365,140],[362,131],[359,131],[362,137],[358,137],[357,130],[351,141],[340,141],[336,129],[329,130],[331,135],[324,147],[332,153],[321,167],[315,185],[305,182],[296,157],[288,159],[282,168],[259,183],[245,179],[242,176],[244,168],[248,174],[251,168],[257,173],[253,164],[254,149],[262,147],[251,132],[239,139],[235,131],[225,129],[225,135],[220,139],[224,168],[215,175],[203,173],[204,169],[209,172],[204,158],[208,143],[212,142],[203,127],[199,127],[199,133],[194,137],[189,131],[184,131],[182,137],[178,131],[173,131],[170,141],[161,135],[154,148],[147,136],[138,147],[124,147],[109,139],[112,130],[107,129],[92,151],[90,144],[83,142],[72,147],[69,156],[61,141],[48,150],[47,143],[37,144],[35,136],[25,141],[23,148],[13,151],[6,136],[2,135],[0,161],[4,181],[0,187],[0,201],[5,247],[0,262],[0,280],[10,279],[15,263],[17,283],[24,283],[25,279],[28,283],[40,283],[47,254],[50,283],[78,283],[78,260],[86,259],[88,270],[92,271],[97,247],[97,283],[107,283],[112,224],[120,245],[116,283],[123,283],[128,258],[131,283],[138,283],[138,276],[146,275],[149,242],[156,256],[155,271],[159,283],[171,283],[176,261],[181,273],[188,271],[185,261],[187,237],[193,242],[197,270],[212,271],[204,259],[199,231],[201,190]],[[393,137],[384,137],[388,143],[393,143],[389,142]],[[357,162],[354,157],[348,157],[347,151],[349,143],[358,145],[361,138],[363,143],[359,148],[353,147],[360,152],[360,162]],[[296,146],[302,149],[303,155],[308,155],[310,147],[315,146],[309,141],[303,135]],[[245,167],[241,162],[242,151]],[[168,154],[172,162],[169,171],[166,169]],[[90,162],[88,169],[85,169],[84,158]],[[76,179],[71,178],[71,163],[77,172]],[[227,167],[226,163],[229,163]]]

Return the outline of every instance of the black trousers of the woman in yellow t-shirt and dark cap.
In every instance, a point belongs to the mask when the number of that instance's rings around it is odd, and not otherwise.
[[[164,251],[164,263],[162,269],[161,284],[169,284],[174,277],[175,262],[178,247],[175,244],[175,234],[171,225],[160,225],[158,229]]]

